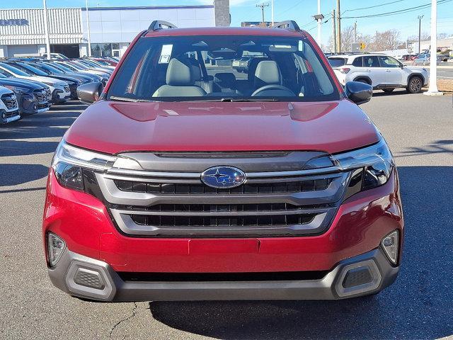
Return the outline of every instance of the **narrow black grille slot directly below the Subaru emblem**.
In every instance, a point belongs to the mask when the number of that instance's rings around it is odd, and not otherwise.
[[[153,183],[142,181],[115,180],[120,191],[134,193],[161,193],[181,195],[204,194],[259,194],[259,193],[298,193],[304,191],[326,190],[332,179],[316,179],[306,181],[287,181],[277,183],[246,183],[236,188],[212,188],[202,183]]]

